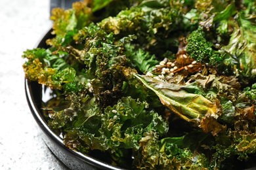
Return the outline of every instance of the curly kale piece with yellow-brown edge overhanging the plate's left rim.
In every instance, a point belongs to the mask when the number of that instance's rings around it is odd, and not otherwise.
[[[79,78],[75,80],[76,65],[68,63],[65,54],[62,56],[61,53],[54,54],[51,50],[35,48],[24,52],[22,57],[28,59],[23,67],[26,78],[30,80],[59,90],[62,89],[62,83],[79,81]]]

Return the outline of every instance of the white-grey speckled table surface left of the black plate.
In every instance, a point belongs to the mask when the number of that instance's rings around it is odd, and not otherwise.
[[[0,1],[0,169],[68,169],[47,148],[28,107],[22,53],[51,27],[50,1]]]

